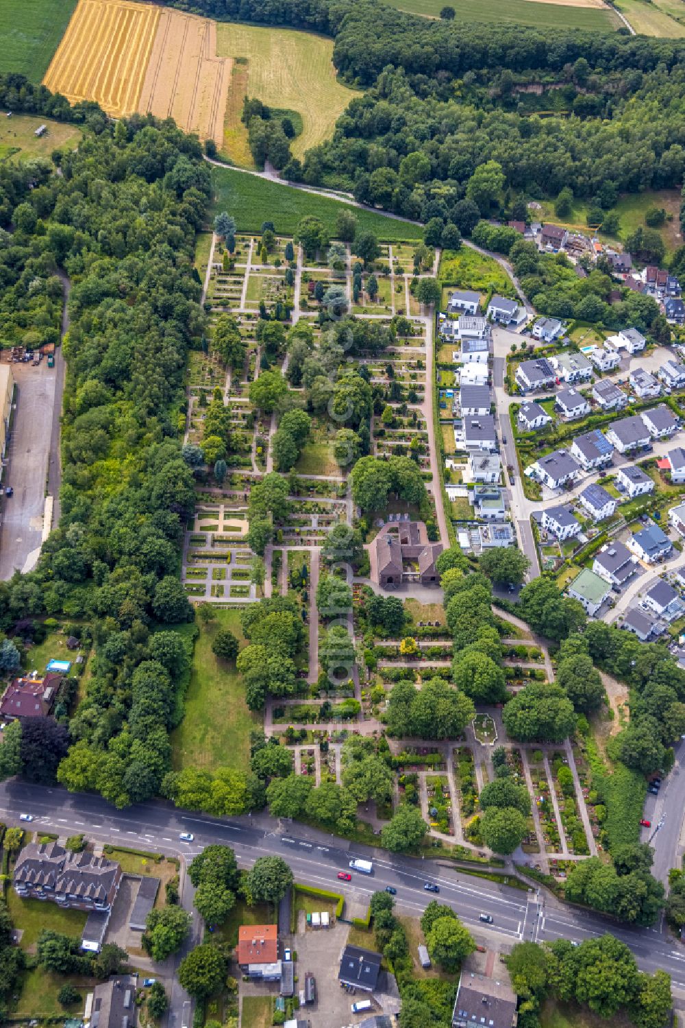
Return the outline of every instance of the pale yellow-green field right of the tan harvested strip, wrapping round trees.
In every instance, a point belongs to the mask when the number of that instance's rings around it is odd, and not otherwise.
[[[254,167],[240,123],[242,99],[258,97],[269,107],[297,111],[302,133],[291,145],[296,157],[333,135],[337,118],[356,94],[342,85],[333,67],[333,40],[292,29],[254,25],[217,26],[219,57],[234,63],[226,110],[223,152],[236,163]],[[245,63],[246,62],[246,63]]]

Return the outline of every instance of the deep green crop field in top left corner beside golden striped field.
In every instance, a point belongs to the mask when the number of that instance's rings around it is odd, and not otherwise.
[[[2,0],[0,71],[40,82],[75,6],[76,0]]]

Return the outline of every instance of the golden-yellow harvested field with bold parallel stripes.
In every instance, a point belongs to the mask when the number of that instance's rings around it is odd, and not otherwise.
[[[130,0],[79,0],[43,84],[72,103],[96,100],[109,114],[131,114],[159,12]]]

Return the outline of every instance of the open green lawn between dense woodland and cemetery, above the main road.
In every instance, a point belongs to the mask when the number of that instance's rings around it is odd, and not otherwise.
[[[218,660],[212,640],[220,628],[228,628],[244,645],[240,611],[217,609],[217,617],[200,630],[195,644],[186,712],[172,734],[174,767],[218,767],[244,770],[250,763],[250,730],[260,720],[249,710],[244,686],[235,664]]]

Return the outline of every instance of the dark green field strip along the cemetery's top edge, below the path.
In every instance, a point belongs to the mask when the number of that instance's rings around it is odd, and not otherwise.
[[[213,168],[212,186],[212,217],[219,211],[228,211],[241,232],[259,232],[262,222],[270,220],[275,224],[276,231],[284,235],[293,234],[300,219],[306,214],[313,214],[334,234],[337,215],[342,210],[349,210],[349,205],[341,200],[293,189],[256,175],[233,172],[229,168]],[[352,210],[359,227],[371,229],[381,241],[394,243],[423,237],[421,225],[386,218],[374,211]]]

